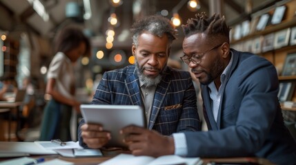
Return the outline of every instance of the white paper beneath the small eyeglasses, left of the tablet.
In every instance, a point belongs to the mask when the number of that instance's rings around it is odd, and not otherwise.
[[[61,146],[60,144],[53,143],[50,141],[36,141],[34,143],[38,144],[42,148],[45,148],[46,150],[82,148],[81,146],[79,146],[79,142],[66,142],[65,146]]]

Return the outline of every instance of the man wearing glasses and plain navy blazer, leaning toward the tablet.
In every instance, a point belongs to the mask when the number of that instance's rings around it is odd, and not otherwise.
[[[201,83],[207,132],[173,137],[128,126],[126,142],[134,155],[187,157],[264,157],[275,164],[296,164],[296,144],[282,117],[279,81],[272,63],[230,49],[224,17],[204,12],[183,26],[184,56]],[[157,148],[157,149],[155,149]]]

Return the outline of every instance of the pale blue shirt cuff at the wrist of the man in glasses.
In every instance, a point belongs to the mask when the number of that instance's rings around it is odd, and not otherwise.
[[[187,155],[187,143],[184,133],[173,133],[175,143],[175,155],[186,156]]]

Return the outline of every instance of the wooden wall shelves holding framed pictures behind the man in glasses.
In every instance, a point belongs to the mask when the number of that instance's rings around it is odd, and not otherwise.
[[[283,7],[285,8],[282,20],[280,23],[273,24],[271,23],[273,19],[273,15],[275,14],[275,10],[277,8]],[[262,30],[257,30],[256,25],[259,24],[261,17],[264,14],[268,14],[269,18],[266,23],[266,26],[262,28]],[[278,14],[278,13],[277,13]],[[278,3],[275,3],[272,6],[266,7],[260,11],[257,11],[256,13],[250,14],[250,21],[249,21],[249,29],[250,32],[247,35],[242,35],[237,39],[237,36],[235,35],[237,32],[237,26],[239,25],[233,25],[231,28],[233,28],[234,32],[230,35],[230,45],[233,45],[232,47],[241,50],[241,51],[247,51],[247,52],[253,52],[255,54],[258,54],[259,56],[263,56],[268,61],[273,63],[275,67],[277,68],[278,76],[279,76],[279,83],[295,83],[296,84],[296,75],[288,75],[288,76],[282,76],[283,69],[286,65],[286,58],[289,54],[296,54],[296,44],[292,43],[292,39],[296,39],[295,36],[295,30],[296,30],[296,0],[286,0],[286,1],[279,1]],[[241,29],[243,28],[244,24],[243,22],[246,20],[241,20],[239,31],[244,31]],[[255,28],[254,28],[255,27]],[[280,32],[287,33],[286,36],[279,36]],[[241,32],[242,33],[242,32]],[[294,36],[292,36],[292,34]],[[270,37],[270,44],[272,45],[271,49],[264,50],[262,49],[264,47],[264,42],[266,42],[267,37]],[[288,39],[286,39],[288,37]],[[284,45],[276,45],[279,41],[283,41],[285,39]],[[264,41],[265,39],[265,41]],[[256,49],[255,43],[257,44]],[[266,46],[266,44],[265,44]],[[296,61],[296,60],[295,60]],[[293,66],[292,66],[293,67]],[[296,67],[296,62],[295,62]],[[293,87],[290,89],[291,97],[289,100],[296,102],[296,87]],[[284,110],[288,111],[296,111],[296,109],[286,109],[282,107]]]

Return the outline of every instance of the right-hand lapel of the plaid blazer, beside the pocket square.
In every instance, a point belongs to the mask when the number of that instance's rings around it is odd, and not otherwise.
[[[164,77],[156,87],[148,129],[152,129],[154,126],[159,110],[161,109],[162,103],[164,102],[164,98],[166,98],[166,93],[168,92],[168,87],[170,86],[171,80],[170,76],[168,75],[169,74],[165,72],[163,75]]]

